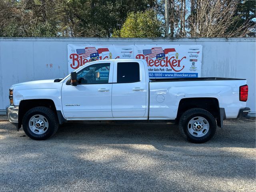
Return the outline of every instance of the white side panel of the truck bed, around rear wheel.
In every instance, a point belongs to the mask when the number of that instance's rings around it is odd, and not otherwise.
[[[198,97],[217,98],[226,118],[236,118],[239,109],[246,106],[239,101],[239,87],[245,84],[246,80],[150,82],[149,119],[174,120],[181,99]]]

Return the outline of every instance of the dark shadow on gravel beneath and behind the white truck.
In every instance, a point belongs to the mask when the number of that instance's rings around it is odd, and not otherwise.
[[[69,122],[61,125],[53,138],[96,144],[152,144],[159,150],[174,150],[166,146],[255,148],[256,140],[255,118],[226,120],[224,128],[217,127],[215,136],[204,144],[185,141],[178,125],[170,123]]]

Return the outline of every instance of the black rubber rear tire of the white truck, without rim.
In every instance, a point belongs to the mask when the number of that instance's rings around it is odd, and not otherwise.
[[[193,136],[192,134],[190,134],[188,130],[189,121],[192,118],[196,118],[196,117],[205,118],[209,123],[208,132],[204,136],[201,136],[201,137]],[[212,116],[210,112],[201,108],[192,108],[184,112],[184,114],[182,114],[182,116],[180,117],[179,130],[182,136],[184,136],[184,138],[189,142],[204,143],[210,140],[214,136],[216,132],[216,121],[214,119],[214,116]]]

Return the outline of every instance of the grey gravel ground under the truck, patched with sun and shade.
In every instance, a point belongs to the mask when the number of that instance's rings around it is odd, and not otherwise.
[[[255,118],[207,143],[166,123],[60,126],[35,141],[0,116],[0,191],[256,191]]]

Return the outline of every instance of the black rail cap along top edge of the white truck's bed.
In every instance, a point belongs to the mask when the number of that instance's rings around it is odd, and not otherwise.
[[[150,82],[171,82],[171,81],[214,81],[214,80],[246,80],[237,78],[222,77],[198,77],[198,78],[150,78]]]

